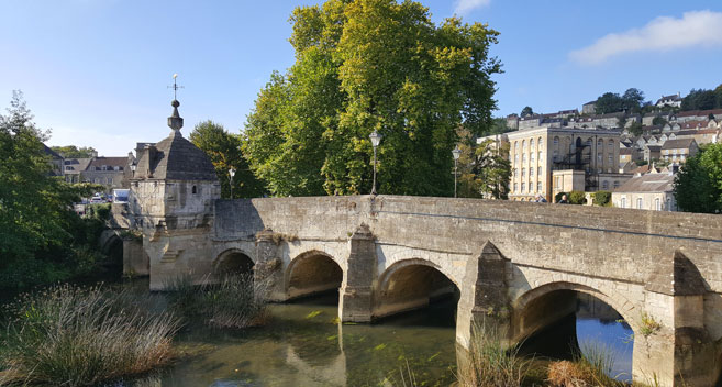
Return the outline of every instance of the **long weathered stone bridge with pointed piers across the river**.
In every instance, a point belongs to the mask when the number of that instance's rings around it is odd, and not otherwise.
[[[356,322],[456,294],[465,347],[475,323],[518,343],[574,313],[581,292],[634,331],[635,380],[711,386],[720,375],[719,215],[396,196],[211,208],[196,226],[146,230],[152,289],[253,267],[274,300],[338,289],[341,320]]]

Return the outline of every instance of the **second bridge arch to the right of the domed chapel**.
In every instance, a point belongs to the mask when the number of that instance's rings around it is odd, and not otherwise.
[[[284,277],[287,298],[292,299],[337,290],[344,270],[331,254],[311,250],[292,258]]]

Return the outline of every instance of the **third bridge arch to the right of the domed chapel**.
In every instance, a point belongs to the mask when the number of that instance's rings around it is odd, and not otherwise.
[[[442,266],[422,258],[393,263],[379,276],[373,317],[382,318],[424,308],[437,297],[455,295],[459,286]]]

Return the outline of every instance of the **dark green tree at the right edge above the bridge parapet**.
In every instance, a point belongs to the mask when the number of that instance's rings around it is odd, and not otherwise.
[[[722,144],[700,147],[675,177],[677,206],[688,212],[722,211]]]

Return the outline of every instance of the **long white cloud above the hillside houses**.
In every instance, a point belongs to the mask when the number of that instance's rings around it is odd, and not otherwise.
[[[709,10],[686,12],[681,19],[660,16],[641,29],[603,36],[588,47],[573,51],[569,57],[595,65],[624,53],[722,45],[720,25],[722,12]]]

